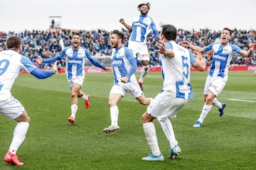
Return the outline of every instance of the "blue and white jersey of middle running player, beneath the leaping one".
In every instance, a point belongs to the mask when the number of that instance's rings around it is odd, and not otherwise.
[[[131,60],[135,60],[135,57],[132,50],[128,47],[122,45],[121,47],[112,50],[111,62],[114,72],[114,84],[122,84],[120,79],[128,74],[131,74],[131,77],[127,83],[137,81],[134,75],[134,72],[136,72],[137,69],[137,64],[134,64],[136,67],[135,69],[132,68]],[[131,69],[134,70],[134,72],[129,73]]]

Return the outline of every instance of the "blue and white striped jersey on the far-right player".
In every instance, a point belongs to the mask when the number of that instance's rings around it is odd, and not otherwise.
[[[225,77],[228,76],[228,67],[235,52],[241,52],[240,47],[228,43],[228,45],[220,45],[220,42],[213,42],[204,47],[207,52],[213,50],[212,64],[210,65],[210,77]]]

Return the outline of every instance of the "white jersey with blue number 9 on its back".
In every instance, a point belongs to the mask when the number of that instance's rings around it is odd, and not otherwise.
[[[37,67],[28,60],[28,57],[14,50],[0,52],[0,101],[11,95],[11,88],[21,71],[31,73],[35,69]]]

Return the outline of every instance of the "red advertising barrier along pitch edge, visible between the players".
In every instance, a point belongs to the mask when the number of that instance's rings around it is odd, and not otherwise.
[[[208,70],[209,67],[206,67],[206,70]],[[255,71],[256,65],[242,65],[242,66],[230,66],[229,71]],[[136,72],[141,72],[142,67],[138,67]],[[191,71],[198,71],[197,69],[191,67]],[[86,67],[85,68],[86,73],[101,73],[105,72],[103,69],[100,69],[99,67]],[[150,67],[149,72],[161,72],[161,67]],[[28,74],[28,72],[21,72],[22,74]],[[58,69],[58,73],[65,73],[65,68]]]

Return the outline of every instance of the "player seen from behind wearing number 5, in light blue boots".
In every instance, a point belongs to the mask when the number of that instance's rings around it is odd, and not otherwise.
[[[186,105],[188,99],[193,98],[190,84],[191,65],[201,72],[206,69],[206,62],[199,52],[196,52],[195,57],[193,57],[190,50],[175,42],[176,32],[176,28],[172,25],[162,26],[161,42],[156,45],[159,48],[156,52],[161,53],[159,59],[164,83],[161,92],[151,101],[146,112],[142,115],[143,129],[151,149],[151,153],[142,158],[145,161],[164,161],[153,123],[155,118],[159,121],[169,141],[170,158],[176,159],[181,153],[169,118],[176,118],[176,114]]]

